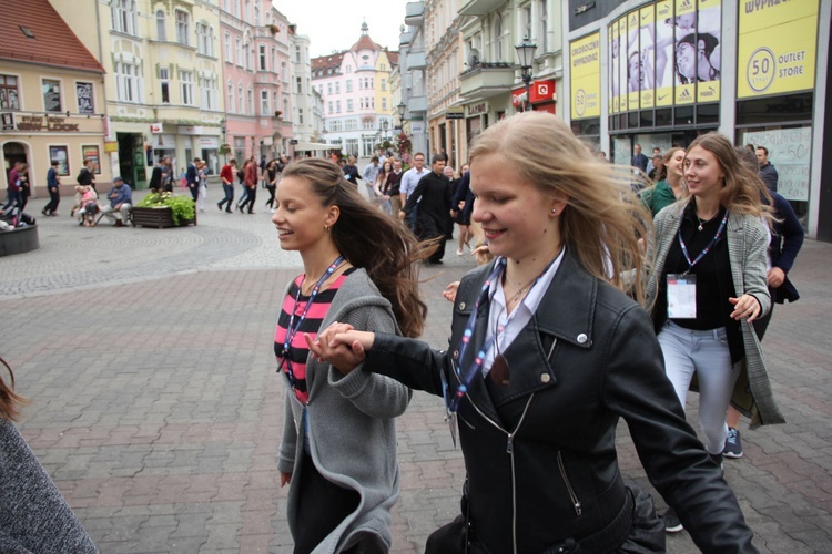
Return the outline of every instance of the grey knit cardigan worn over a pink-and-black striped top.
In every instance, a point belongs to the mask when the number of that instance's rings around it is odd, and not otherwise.
[[[282,298],[287,291],[288,287]],[[344,279],[321,329],[333,321],[361,330],[399,332],[389,301],[361,268]],[[304,406],[288,388],[285,373],[281,375],[287,390],[277,468],[293,473],[287,515],[290,530],[295,534],[298,524],[315,525],[315,522],[297,521]],[[361,495],[356,511],[314,552],[341,552],[358,543],[361,552],[387,552],[393,541],[390,509],[398,499],[399,481],[394,418],[405,412],[413,393],[389,377],[364,370],[363,365],[344,376],[312,357],[306,360],[306,383],[312,460],[323,476]]]

